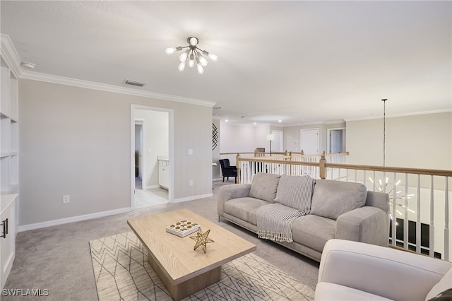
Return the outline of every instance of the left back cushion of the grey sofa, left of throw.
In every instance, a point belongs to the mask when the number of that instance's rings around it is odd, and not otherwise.
[[[280,182],[280,175],[258,172],[251,182],[249,196],[274,203],[278,182]]]

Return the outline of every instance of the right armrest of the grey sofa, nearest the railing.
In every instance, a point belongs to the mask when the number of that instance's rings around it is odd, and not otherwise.
[[[335,238],[388,246],[389,217],[380,208],[356,208],[340,215],[336,222]]]

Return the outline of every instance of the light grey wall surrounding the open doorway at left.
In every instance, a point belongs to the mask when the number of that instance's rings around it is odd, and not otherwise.
[[[20,225],[130,208],[131,104],[174,110],[175,201],[212,194],[212,107],[20,79]]]

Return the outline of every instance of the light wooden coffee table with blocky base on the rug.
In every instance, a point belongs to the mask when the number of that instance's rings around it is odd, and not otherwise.
[[[166,232],[166,227],[180,220],[198,223],[215,242],[207,252],[194,251],[195,241]],[[221,266],[256,250],[256,245],[234,235],[197,214],[182,209],[127,220],[127,224],[148,249],[148,261],[174,300],[181,300],[220,281]]]

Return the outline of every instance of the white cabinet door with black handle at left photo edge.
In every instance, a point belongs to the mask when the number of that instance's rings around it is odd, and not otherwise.
[[[16,256],[16,223],[15,223],[15,202],[11,202],[8,207],[5,208],[3,213],[1,213],[1,223],[3,225],[0,227],[0,250],[1,250],[1,288],[4,288],[6,283],[6,278],[8,278],[9,272],[13,267],[14,256]],[[6,221],[7,220],[7,221]],[[5,234],[4,231],[8,232]]]

